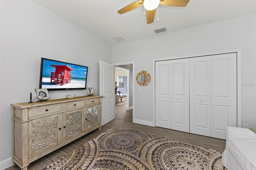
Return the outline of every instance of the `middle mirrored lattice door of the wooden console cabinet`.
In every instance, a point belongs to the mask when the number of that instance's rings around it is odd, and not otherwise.
[[[77,109],[63,114],[63,140],[84,132],[84,109]]]

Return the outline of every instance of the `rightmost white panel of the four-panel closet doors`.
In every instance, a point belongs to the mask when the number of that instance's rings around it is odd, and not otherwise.
[[[212,55],[212,137],[226,138],[226,127],[237,127],[236,53]]]

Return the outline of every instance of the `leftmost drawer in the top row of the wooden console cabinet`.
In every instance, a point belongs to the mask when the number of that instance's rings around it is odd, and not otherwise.
[[[28,117],[40,116],[58,111],[61,111],[61,104],[35,107],[28,109]]]

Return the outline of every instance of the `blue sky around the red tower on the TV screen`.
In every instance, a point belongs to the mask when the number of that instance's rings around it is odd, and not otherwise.
[[[43,67],[44,76],[51,76],[51,72],[55,72],[55,67],[52,67],[51,65],[67,65],[73,70],[73,71],[70,71],[70,74],[72,75],[73,78],[83,78],[83,79],[86,78],[87,67],[58,62],[58,61],[51,61],[46,59],[44,59],[44,67]]]

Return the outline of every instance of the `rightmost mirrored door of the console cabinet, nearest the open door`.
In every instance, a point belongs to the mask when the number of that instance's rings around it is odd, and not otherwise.
[[[98,125],[98,105],[86,107],[86,130],[94,125]]]

